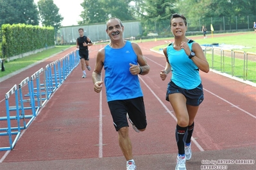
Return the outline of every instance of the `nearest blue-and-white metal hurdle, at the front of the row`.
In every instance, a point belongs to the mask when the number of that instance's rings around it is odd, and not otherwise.
[[[13,128],[11,125],[11,118],[10,118],[10,108],[9,108],[9,98],[11,95],[15,94],[15,104],[16,104],[16,118],[17,118],[17,127]],[[21,127],[20,127],[20,120],[19,120],[19,98],[17,92],[17,85],[15,84],[10,91],[5,94],[5,104],[6,104],[6,117],[1,117],[0,120],[7,121],[7,128],[0,128],[0,131],[6,131],[0,133],[1,135],[8,135],[9,145],[7,147],[1,147],[0,151],[4,150],[12,150],[19,139],[19,135],[21,135]],[[14,131],[15,130],[15,131]],[[12,140],[12,135],[16,135],[14,140]]]

